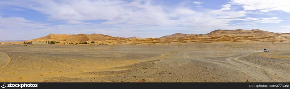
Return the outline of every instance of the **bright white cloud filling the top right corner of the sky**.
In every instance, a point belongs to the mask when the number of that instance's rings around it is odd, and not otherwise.
[[[231,3],[242,5],[244,10],[260,10],[261,12],[282,10],[290,12],[289,0],[231,0]]]

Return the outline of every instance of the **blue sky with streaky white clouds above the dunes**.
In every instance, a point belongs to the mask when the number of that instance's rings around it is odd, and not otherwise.
[[[216,29],[289,33],[289,0],[1,0],[0,40],[53,34],[161,37]]]

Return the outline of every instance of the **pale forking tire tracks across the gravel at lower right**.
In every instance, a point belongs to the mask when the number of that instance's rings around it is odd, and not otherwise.
[[[205,61],[209,63],[219,64],[231,69],[242,71],[248,76],[255,78],[257,81],[264,82],[283,82],[288,79],[289,74],[285,71],[280,71],[278,69],[272,69],[269,67],[261,66],[255,63],[250,63],[247,61],[241,61],[239,58],[251,55],[254,52],[246,53],[244,55],[226,58],[226,61],[219,61],[206,58],[189,58],[188,53],[184,53],[184,58]],[[274,76],[275,75],[275,76]],[[287,80],[286,80],[287,81]]]

